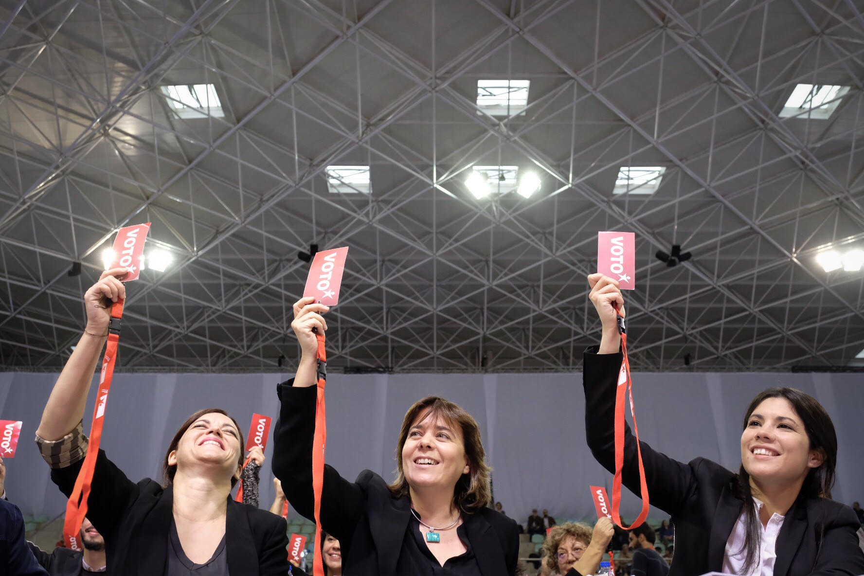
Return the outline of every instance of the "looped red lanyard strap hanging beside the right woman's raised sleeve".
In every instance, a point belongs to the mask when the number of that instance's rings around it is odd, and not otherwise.
[[[621,335],[621,351],[624,361],[618,376],[618,386],[615,391],[615,478],[612,483],[612,519],[623,529],[634,529],[648,517],[648,483],[645,480],[645,465],[642,463],[642,446],[639,446],[639,427],[636,425],[636,409],[633,408],[633,382],[630,377],[630,360],[627,358],[627,333],[624,317],[618,313],[618,332]],[[642,512],[629,526],[621,526],[619,509],[621,505],[621,472],[624,470],[624,427],[625,427],[625,395],[630,397],[630,415],[633,418],[633,435],[636,438],[636,453],[639,465],[639,491],[642,497]]]

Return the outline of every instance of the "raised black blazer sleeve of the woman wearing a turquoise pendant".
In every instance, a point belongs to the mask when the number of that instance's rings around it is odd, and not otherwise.
[[[273,474],[282,481],[289,503],[302,516],[314,520],[312,444],[315,431],[315,386],[294,388],[293,379],[279,384],[282,406],[273,431]],[[324,466],[321,488],[321,527],[349,544],[363,515],[365,497],[358,484],[348,482],[332,466]]]

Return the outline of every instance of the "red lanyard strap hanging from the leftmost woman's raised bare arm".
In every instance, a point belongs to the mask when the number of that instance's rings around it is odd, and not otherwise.
[[[96,457],[99,453],[99,443],[102,441],[102,426],[105,423],[105,405],[108,403],[108,392],[111,390],[111,378],[114,377],[114,364],[117,362],[117,348],[120,341],[120,324],[123,318],[123,300],[114,302],[111,306],[111,320],[108,323],[108,345],[105,347],[105,358],[102,360],[102,375],[99,377],[99,389],[96,395],[96,406],[93,408],[93,421],[90,427],[90,443],[84,464],[75,479],[75,487],[66,505],[66,520],[63,523],[63,539],[66,547],[73,550],[83,550],[79,535],[81,523],[87,515],[87,499],[96,468]]]

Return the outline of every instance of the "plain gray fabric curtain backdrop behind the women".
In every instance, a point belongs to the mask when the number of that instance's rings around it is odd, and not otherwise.
[[[276,383],[290,376],[117,373],[102,447],[130,479],[160,478],[168,442],[188,415],[199,408],[226,408],[246,434],[252,413],[276,418]],[[23,421],[16,457],[6,459],[6,489],[12,502],[37,516],[59,515],[66,503],[33,442],[56,378],[0,373],[0,419]],[[737,470],[743,412],[759,390],[778,385],[802,389],[823,403],[840,442],[834,497],[843,503],[864,500],[864,385],[858,374],[636,373],[634,400],[641,438],[672,458],[687,462],[703,456]],[[85,431],[90,428],[95,395],[94,385]],[[579,373],[332,374],[327,378],[327,463],[345,478],[356,478],[369,468],[391,480],[403,415],[413,402],[429,395],[461,404],[480,423],[494,468],[495,499],[518,522],[524,524],[532,508],[548,509],[559,522],[592,518],[588,486],[605,485],[611,494],[612,475],[600,468],[585,444]],[[268,459],[272,451],[270,439]],[[266,462],[262,507],[269,507],[273,496]],[[626,492],[621,515],[632,520],[640,508],[638,498]],[[651,510],[649,518],[666,516]]]

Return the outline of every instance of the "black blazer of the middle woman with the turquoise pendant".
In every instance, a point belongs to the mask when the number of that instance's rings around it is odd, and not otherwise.
[[[312,444],[317,393],[314,386],[293,388],[291,383],[293,379],[278,387],[282,408],[273,431],[273,473],[282,481],[289,503],[312,520]],[[332,466],[325,465],[321,527],[339,540],[346,576],[397,574],[410,515],[409,498],[392,497],[384,478],[375,472],[365,470],[356,482],[348,482]],[[517,523],[489,508],[465,514],[463,520],[480,573],[483,576],[515,573],[519,552]]]

